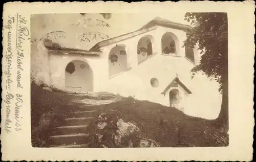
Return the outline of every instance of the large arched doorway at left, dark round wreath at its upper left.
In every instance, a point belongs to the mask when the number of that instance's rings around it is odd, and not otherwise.
[[[74,91],[93,91],[93,71],[88,63],[74,60],[65,69],[65,86]]]

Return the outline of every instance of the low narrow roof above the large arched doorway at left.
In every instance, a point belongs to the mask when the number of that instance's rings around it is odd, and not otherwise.
[[[61,54],[76,54],[76,55],[100,55],[102,52],[94,52],[80,49],[72,49],[72,48],[63,48],[58,43],[53,43],[51,40],[46,39],[44,41],[45,47],[51,53],[61,53]]]

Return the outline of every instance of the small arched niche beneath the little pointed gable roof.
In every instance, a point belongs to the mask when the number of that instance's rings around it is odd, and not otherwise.
[[[183,95],[180,90],[178,89],[170,90],[169,92],[170,107],[175,107],[179,110],[184,111],[182,100],[183,100]]]

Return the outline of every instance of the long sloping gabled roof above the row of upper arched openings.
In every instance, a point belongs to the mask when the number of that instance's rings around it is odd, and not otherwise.
[[[139,30],[136,30],[134,32],[131,33],[127,33],[127,34],[123,34],[114,38],[110,38],[107,40],[103,40],[101,42],[98,42],[97,44],[94,45],[94,47],[92,47],[90,49],[90,51],[100,51],[99,49],[101,47],[104,47],[105,45],[109,45],[112,43],[117,43],[121,40],[125,40],[152,30],[155,30],[157,28],[157,26],[162,26],[162,27],[167,27],[167,28],[174,28],[174,29],[179,29],[179,30],[183,30],[185,32],[187,32],[188,30],[191,29],[190,26],[188,25],[184,25],[184,24],[180,24],[178,22],[174,22],[174,21],[170,21],[167,19],[163,19],[161,17],[156,17],[153,20],[151,20],[150,22],[148,22],[145,26],[143,26],[142,28],[140,28]]]

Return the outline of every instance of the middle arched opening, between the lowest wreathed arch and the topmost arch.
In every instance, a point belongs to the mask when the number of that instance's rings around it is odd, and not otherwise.
[[[142,62],[148,56],[153,54],[153,41],[154,39],[152,35],[146,35],[140,38],[137,45],[138,63]]]

